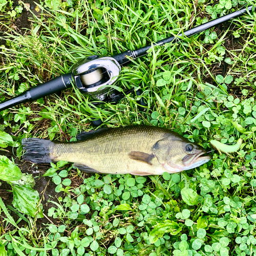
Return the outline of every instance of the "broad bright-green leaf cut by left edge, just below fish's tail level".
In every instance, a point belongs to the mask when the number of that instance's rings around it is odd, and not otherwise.
[[[16,181],[20,178],[22,178],[22,172],[20,172],[19,167],[6,156],[0,156],[0,180]]]

